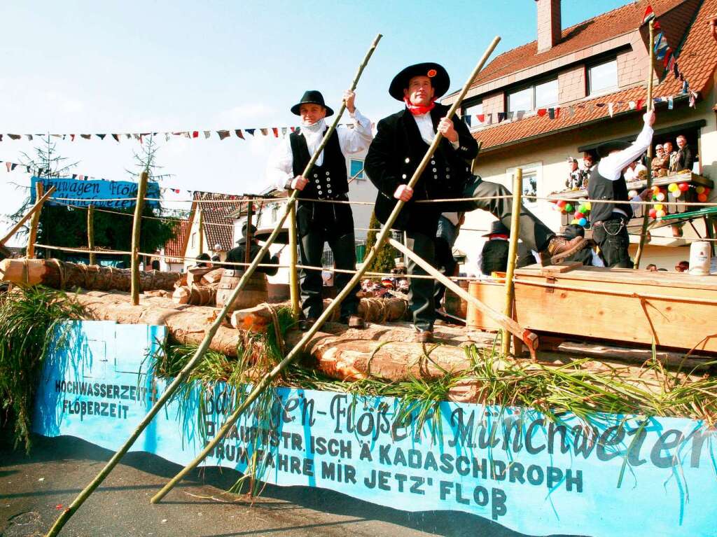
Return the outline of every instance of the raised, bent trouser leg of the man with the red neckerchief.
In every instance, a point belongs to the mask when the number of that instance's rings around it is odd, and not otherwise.
[[[460,201],[457,204],[449,204],[449,208],[441,209],[446,211],[469,212],[475,209],[483,209],[493,214],[494,217],[503,222],[503,225],[511,229],[511,217],[513,213],[513,200],[511,199],[511,191],[502,184],[483,181],[480,177],[475,176],[472,181],[463,189],[464,198],[489,198],[492,196],[508,196],[500,199],[481,199],[478,201]],[[551,237],[555,233],[551,231],[543,222],[541,222],[535,214],[521,207],[521,241],[529,250],[540,252],[548,246]]]

